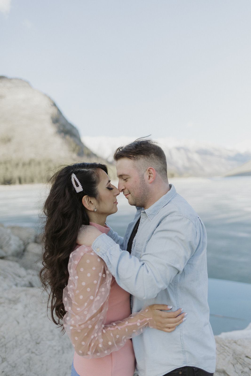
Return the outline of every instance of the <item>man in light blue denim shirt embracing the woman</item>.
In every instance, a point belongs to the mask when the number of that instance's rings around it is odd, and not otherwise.
[[[132,312],[162,303],[188,313],[169,334],[146,329],[132,339],[138,373],[213,375],[204,224],[169,185],[166,157],[156,143],[138,139],[118,148],[114,159],[118,188],[137,207],[135,218],[124,238],[113,230],[107,236],[92,228],[84,233],[82,244],[92,244],[117,283],[132,294]]]

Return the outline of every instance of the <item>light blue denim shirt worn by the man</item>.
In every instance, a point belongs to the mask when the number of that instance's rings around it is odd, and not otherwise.
[[[110,230],[92,245],[117,283],[132,294],[132,312],[155,303],[187,312],[186,321],[171,333],[148,327],[132,339],[140,376],[162,376],[184,366],[215,370],[207,303],[207,234],[193,208],[170,187],[150,208],[137,208],[124,238]],[[126,247],[138,218],[129,255]]]

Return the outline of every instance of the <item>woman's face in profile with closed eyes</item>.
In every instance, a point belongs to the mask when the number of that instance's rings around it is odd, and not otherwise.
[[[97,213],[101,215],[110,215],[116,213],[117,199],[116,197],[120,194],[118,188],[111,184],[109,176],[105,171],[99,168],[99,184],[97,189],[99,191],[98,203],[97,203]]]

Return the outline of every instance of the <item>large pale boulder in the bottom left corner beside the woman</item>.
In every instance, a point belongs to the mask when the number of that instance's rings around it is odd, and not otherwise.
[[[2,376],[70,375],[73,347],[48,319],[46,309],[38,288],[17,287],[1,294]]]

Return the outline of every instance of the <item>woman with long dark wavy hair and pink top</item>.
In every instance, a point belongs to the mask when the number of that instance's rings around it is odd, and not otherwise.
[[[75,349],[72,376],[132,376],[135,359],[129,338],[146,327],[170,332],[184,320],[181,309],[162,312],[170,309],[166,305],[131,314],[129,293],[90,246],[76,244],[82,224],[109,232],[105,221],[117,211],[118,194],[105,165],[79,163],[52,177],[44,205],[40,274],[44,287],[50,288],[52,320],[67,332]]]

